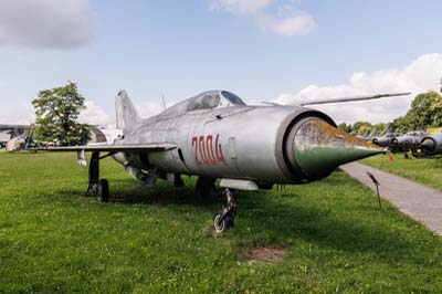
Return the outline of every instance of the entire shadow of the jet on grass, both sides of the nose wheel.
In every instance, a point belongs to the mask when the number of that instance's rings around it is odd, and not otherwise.
[[[333,181],[340,182],[341,180]],[[225,201],[221,197],[210,203],[196,199],[193,187],[190,185],[180,189],[171,185],[159,185],[158,188],[146,189],[131,180],[113,180],[110,185],[110,187],[116,187],[112,191],[112,195],[116,196],[112,202],[124,206],[185,204],[212,213]],[[60,192],[63,197],[78,197],[78,193],[73,190]],[[349,220],[326,208],[306,207],[297,201],[282,203],[274,199],[274,197],[277,198],[274,195],[274,191],[240,192],[238,218],[241,220],[241,225],[251,230],[238,228],[238,231],[229,234],[228,238],[238,239],[240,244],[244,241],[244,245],[271,243],[282,246],[302,239],[316,244],[322,250],[369,253],[377,259],[388,261],[422,262],[421,256],[410,254],[410,249],[419,246],[419,242],[410,242],[392,229],[381,227],[382,222],[366,222],[369,216],[361,216],[362,221],[358,221],[357,216]],[[298,198],[299,196],[286,192],[284,198],[286,197]],[[177,210],[176,213],[185,213],[185,211]],[[190,221],[185,219],[182,218],[182,221]]]

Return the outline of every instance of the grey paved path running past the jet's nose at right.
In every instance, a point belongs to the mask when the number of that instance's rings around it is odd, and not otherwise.
[[[379,190],[382,198],[442,235],[441,191],[359,162],[344,165],[340,168],[350,177],[376,191],[375,185],[367,176],[367,171],[371,172],[380,182]]]

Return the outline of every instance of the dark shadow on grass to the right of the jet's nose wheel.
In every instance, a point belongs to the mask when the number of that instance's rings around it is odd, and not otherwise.
[[[253,209],[259,212],[246,216],[244,222],[257,234],[273,234],[276,244],[303,239],[323,249],[370,253],[388,260],[414,259],[410,256],[410,248],[418,242],[413,244],[380,223],[355,221],[357,216],[354,220],[339,218],[339,214],[319,208],[277,204],[269,198],[253,203]]]

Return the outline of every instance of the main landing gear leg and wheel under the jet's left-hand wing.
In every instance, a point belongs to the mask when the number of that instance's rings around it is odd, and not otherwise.
[[[93,151],[90,164],[90,185],[86,196],[95,196],[97,201],[109,201],[109,183],[106,179],[99,179],[99,151]]]

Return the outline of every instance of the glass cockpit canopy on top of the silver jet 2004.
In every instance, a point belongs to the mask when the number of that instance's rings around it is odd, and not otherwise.
[[[193,97],[189,104],[188,111],[192,112],[225,106],[245,106],[245,103],[235,94],[228,91],[211,91]]]

